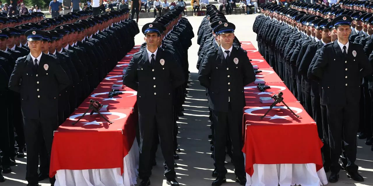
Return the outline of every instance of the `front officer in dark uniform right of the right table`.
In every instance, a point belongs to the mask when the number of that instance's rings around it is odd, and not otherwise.
[[[330,170],[329,182],[338,181],[341,165],[338,163],[341,155],[342,135],[348,164],[348,177],[355,181],[364,181],[358,174],[355,164],[358,131],[359,100],[361,78],[372,74],[372,65],[364,55],[363,48],[349,42],[352,18],[339,15],[333,19],[338,39],[333,44],[321,48],[312,74],[319,78],[322,86],[322,105],[327,107],[327,122],[329,125]]]

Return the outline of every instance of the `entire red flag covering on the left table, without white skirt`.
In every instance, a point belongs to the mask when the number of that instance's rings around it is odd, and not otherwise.
[[[122,84],[122,71],[140,47],[134,47],[96,89],[84,100],[78,109],[54,132],[50,161],[50,177],[57,170],[110,169],[120,167],[123,173],[123,158],[129,153],[135,140],[135,126],[138,113],[133,111],[137,92],[123,86],[123,94],[108,97],[113,84]],[[73,122],[83,115],[89,101],[97,100],[109,105],[107,111],[100,111],[109,124],[91,110],[75,125]]]

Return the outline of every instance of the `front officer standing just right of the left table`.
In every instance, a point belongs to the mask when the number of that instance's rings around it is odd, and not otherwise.
[[[173,158],[172,97],[176,87],[184,83],[182,68],[172,54],[158,48],[162,27],[147,23],[142,27],[146,50],[134,54],[123,84],[137,91],[140,128],[140,185],[150,185],[151,148],[154,129],[159,133],[162,154],[167,165],[167,184],[178,186]]]

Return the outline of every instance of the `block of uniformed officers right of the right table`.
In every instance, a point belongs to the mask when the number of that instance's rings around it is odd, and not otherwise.
[[[372,8],[371,1],[263,3],[253,26],[259,52],[316,121],[332,183],[340,169],[364,181],[356,136],[372,145]]]

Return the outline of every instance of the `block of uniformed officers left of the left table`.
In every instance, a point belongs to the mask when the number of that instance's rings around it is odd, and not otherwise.
[[[26,144],[28,186],[49,177],[53,131],[134,47],[140,32],[129,9],[92,14],[0,15],[1,114],[7,118],[0,125],[1,171],[12,171]]]

